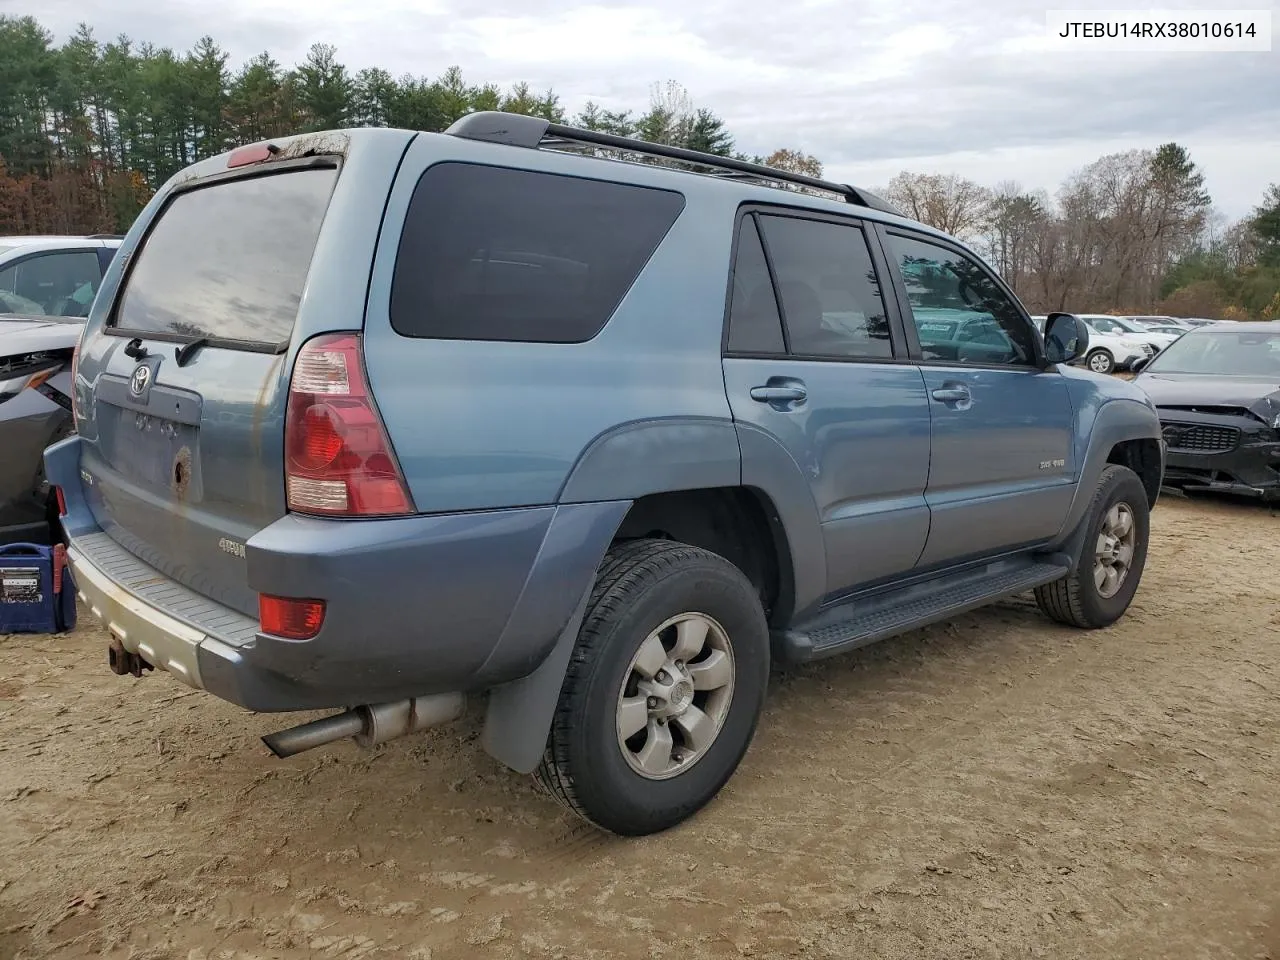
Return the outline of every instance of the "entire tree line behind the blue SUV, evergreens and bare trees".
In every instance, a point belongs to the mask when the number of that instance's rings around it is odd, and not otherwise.
[[[571,115],[553,90],[472,83],[458,67],[352,72],[317,44],[292,68],[261,52],[233,69],[207,36],[178,52],[82,26],[59,46],[37,19],[0,15],[0,234],[123,232],[170,175],[232,146],[339,127],[443,131],[476,110],[823,172],[792,147],[740,152],[724,120],[673,82],[654,84],[644,110],[588,102]],[[1222,224],[1176,143],[1105,156],[1053,197],[919,173],[882,192],[979,244],[1037,311],[1280,315],[1280,186],[1253,216]]]

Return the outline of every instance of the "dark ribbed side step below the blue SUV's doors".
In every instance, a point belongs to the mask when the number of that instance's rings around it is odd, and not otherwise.
[[[822,611],[797,627],[776,631],[774,644],[782,659],[791,663],[855,650],[992,600],[1051,584],[1069,572],[1065,562],[1053,562],[1057,559],[1002,561],[869,596],[855,596]]]

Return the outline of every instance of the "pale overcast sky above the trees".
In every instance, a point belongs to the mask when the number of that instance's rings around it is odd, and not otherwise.
[[[1132,4],[1137,5],[1137,4]],[[1088,0],[1053,8],[1116,9]],[[1276,0],[1164,9],[1272,10]],[[19,9],[26,8],[26,9]],[[88,13],[95,9],[95,13]],[[883,186],[899,170],[1016,180],[1051,192],[1098,156],[1176,140],[1216,206],[1238,218],[1280,182],[1280,40],[1271,52],[1079,52],[1046,44],[1046,6],[1020,0],[0,0],[58,40],[79,20],[188,49],[211,33],[234,64],[287,65],[315,42],[353,72],[383,67],[553,87],[643,110],[682,83],[746,152],[815,154],[833,179]]]

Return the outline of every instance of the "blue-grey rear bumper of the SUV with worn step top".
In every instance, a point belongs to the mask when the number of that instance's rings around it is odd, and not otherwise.
[[[257,593],[316,598],[311,640],[262,634],[108,536],[81,490],[79,440],[50,447],[86,605],[124,648],[252,710],[484,690],[531,673],[591,584],[628,502],[376,521],[289,515],[246,544]]]

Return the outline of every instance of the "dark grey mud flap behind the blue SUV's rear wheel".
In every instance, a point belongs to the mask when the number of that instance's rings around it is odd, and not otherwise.
[[[489,691],[480,742],[490,756],[517,773],[532,773],[547,750],[556,704],[590,596],[591,586],[588,586],[556,646],[538,669]]]

